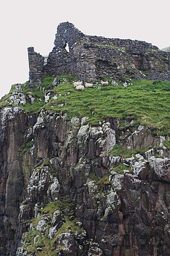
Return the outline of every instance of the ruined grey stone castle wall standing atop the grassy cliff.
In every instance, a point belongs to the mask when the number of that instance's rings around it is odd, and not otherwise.
[[[138,40],[84,35],[69,22],[57,27],[46,59],[29,47],[28,60],[31,86],[39,85],[44,75],[66,73],[87,82],[104,77],[170,80],[169,52]]]

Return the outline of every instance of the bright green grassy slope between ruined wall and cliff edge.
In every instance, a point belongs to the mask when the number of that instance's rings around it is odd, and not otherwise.
[[[132,117],[135,123],[146,125],[158,134],[170,134],[170,81],[147,81],[133,80],[133,85],[124,88],[121,84],[118,87],[112,85],[101,87],[100,89],[85,89],[83,92],[75,90],[72,81],[76,80],[69,75],[59,76],[61,84],[56,88],[50,89],[54,77],[45,77],[41,90],[38,88],[30,89],[28,84],[22,85],[23,93],[32,92],[36,97],[33,105],[26,104],[21,106],[27,113],[37,113],[43,107],[46,110],[67,113],[69,117],[88,117],[88,122],[98,125],[107,117],[126,118]],[[49,90],[52,94],[61,94],[57,100],[51,100],[48,104],[44,102],[42,88]],[[12,90],[14,88],[12,87]],[[12,92],[11,90],[11,92]],[[3,97],[0,107],[7,106],[6,99]],[[70,94],[67,94],[67,93]],[[39,101],[41,98],[42,101]],[[63,104],[63,105],[61,105]]]

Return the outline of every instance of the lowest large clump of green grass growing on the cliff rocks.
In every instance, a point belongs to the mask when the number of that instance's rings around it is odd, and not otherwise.
[[[56,209],[61,210],[62,213],[64,213],[63,217],[63,225],[61,226],[61,228],[58,229],[58,231],[56,232],[54,238],[52,240],[50,240],[48,238],[48,234],[49,234],[49,228],[51,225],[51,222],[49,220],[48,222],[48,228],[46,229],[46,232],[44,234],[44,236],[42,236],[42,234],[38,231],[38,230],[30,230],[28,232],[24,233],[24,249],[27,250],[28,255],[31,255],[31,253],[33,251],[36,251],[36,255],[40,256],[40,255],[46,255],[46,256],[54,256],[56,255],[56,242],[58,240],[58,236],[59,234],[62,233],[67,233],[68,232],[68,227],[71,228],[71,231],[73,233],[84,233],[84,229],[80,228],[78,225],[76,225],[77,221],[80,221],[78,218],[74,218],[74,220],[70,221],[69,216],[73,215],[73,207],[74,207],[74,203],[70,200],[69,196],[66,196],[65,198],[63,198],[61,201],[53,201],[52,203],[46,205],[46,207],[44,209],[40,209],[41,214],[42,214],[42,218],[45,216],[52,216],[52,214],[54,213],[54,211]],[[38,222],[40,221],[39,218],[32,218],[32,225],[33,228],[36,228]],[[35,243],[34,242],[34,238],[36,236],[39,236],[38,241]],[[38,247],[41,247],[43,250],[39,251],[37,250]],[[62,250],[62,246],[57,247],[57,250]]]

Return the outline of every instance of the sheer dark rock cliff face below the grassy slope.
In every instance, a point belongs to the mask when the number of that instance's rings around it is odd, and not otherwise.
[[[168,137],[120,127],[1,110],[1,255],[169,255]]]

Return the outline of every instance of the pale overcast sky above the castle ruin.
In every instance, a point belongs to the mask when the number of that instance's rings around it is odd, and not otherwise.
[[[170,46],[169,0],[1,0],[0,98],[28,80],[27,47],[48,55],[60,22],[84,34]]]

